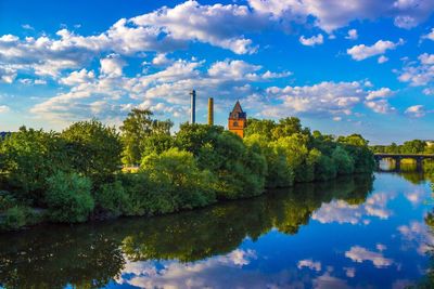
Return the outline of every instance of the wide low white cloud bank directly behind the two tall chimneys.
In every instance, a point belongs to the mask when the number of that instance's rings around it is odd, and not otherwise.
[[[204,62],[170,62],[171,65],[155,73],[126,77],[122,74],[120,58],[104,58],[99,76],[86,69],[69,74],[60,80],[71,86],[68,91],[44,100],[30,111],[64,124],[91,117],[105,120],[124,116],[135,106],[150,108],[158,116],[180,118],[187,116],[189,97],[186,95],[193,88],[201,95],[218,95],[216,105],[226,102],[232,105],[235,97],[254,92],[252,81],[267,82],[288,76],[288,73],[264,71],[260,66],[243,61],[216,62],[207,68]]]

